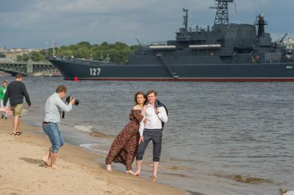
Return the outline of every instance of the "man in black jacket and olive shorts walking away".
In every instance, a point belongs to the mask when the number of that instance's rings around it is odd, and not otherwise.
[[[30,96],[28,96],[28,92],[26,91],[26,85],[24,85],[21,82],[22,79],[23,79],[22,74],[17,74],[17,76],[15,76],[15,80],[8,85],[4,99],[3,99],[4,108],[6,107],[8,98],[10,99],[11,110],[14,116],[13,132],[12,132],[12,134],[14,135],[20,135],[22,133],[19,130],[19,117],[22,116],[23,96],[26,97],[26,102],[28,103],[28,107],[32,105],[32,103],[30,103]]]

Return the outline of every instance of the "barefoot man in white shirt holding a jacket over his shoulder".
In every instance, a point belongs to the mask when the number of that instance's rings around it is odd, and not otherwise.
[[[162,125],[161,122],[166,123],[168,116],[164,107],[155,107],[155,100],[157,99],[157,92],[150,90],[147,92],[148,105],[144,108],[144,119],[139,127],[139,147],[137,150],[137,172],[135,175],[141,174],[141,164],[144,152],[149,142],[153,141],[153,178],[157,178],[157,170],[161,154],[162,141]]]

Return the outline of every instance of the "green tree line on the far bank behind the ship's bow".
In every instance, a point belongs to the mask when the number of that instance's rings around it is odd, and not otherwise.
[[[112,61],[114,63],[127,63],[128,55],[134,53],[139,48],[139,45],[127,45],[126,43],[101,43],[93,44],[86,41],[74,45],[63,45],[55,48],[56,55],[59,57],[75,59],[92,59],[96,61]],[[17,56],[18,61],[46,61],[46,57],[52,56],[52,48],[41,50],[40,52],[30,52]]]

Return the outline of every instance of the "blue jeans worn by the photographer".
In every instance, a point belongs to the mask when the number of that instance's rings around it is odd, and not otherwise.
[[[60,147],[64,144],[63,138],[61,136],[61,132],[59,130],[59,126],[57,123],[43,123],[43,130],[48,135],[50,142],[52,143],[52,151],[53,153],[58,153]]]

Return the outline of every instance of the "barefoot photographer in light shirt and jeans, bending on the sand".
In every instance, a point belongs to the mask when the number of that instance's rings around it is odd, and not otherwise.
[[[43,130],[50,138],[52,146],[49,152],[42,158],[43,163],[47,166],[56,168],[55,165],[59,148],[64,141],[59,130],[60,116],[63,111],[70,112],[75,99],[71,99],[68,105],[62,101],[66,97],[66,86],[59,85],[56,92],[48,97],[45,104],[45,117],[43,121]]]

